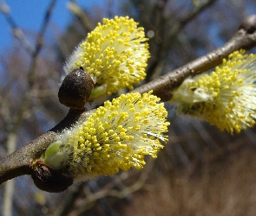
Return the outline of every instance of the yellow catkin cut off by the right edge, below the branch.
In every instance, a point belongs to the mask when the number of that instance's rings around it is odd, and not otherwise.
[[[235,51],[212,73],[186,79],[171,102],[178,112],[203,118],[231,134],[255,124],[256,54]]]

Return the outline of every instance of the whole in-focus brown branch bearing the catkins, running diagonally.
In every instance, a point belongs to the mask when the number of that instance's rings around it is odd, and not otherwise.
[[[245,21],[238,33],[223,47],[218,48],[210,54],[202,56],[173,72],[167,73],[165,76],[135,89],[133,92],[143,93],[153,90],[154,94],[160,97],[162,101],[167,101],[172,98],[174,88],[181,85],[182,81],[189,75],[202,73],[217,66],[223,58],[235,50],[255,47],[256,15],[252,17],[254,17],[254,22],[252,22],[251,18],[249,25],[245,25],[245,22],[247,22]],[[250,29],[250,31],[248,31],[248,29]],[[0,183],[18,175],[29,175],[31,162],[38,159],[49,144],[56,139],[56,132],[69,128],[69,126],[75,124],[76,121],[84,121],[90,114],[91,111],[69,110],[66,118],[64,118],[60,124],[57,124],[55,128],[0,161]]]

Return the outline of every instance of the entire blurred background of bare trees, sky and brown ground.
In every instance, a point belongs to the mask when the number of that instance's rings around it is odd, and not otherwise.
[[[254,0],[6,0],[0,7],[0,158],[64,118],[68,109],[57,98],[63,63],[103,17],[130,16],[144,27],[148,82],[219,48],[256,14]],[[61,194],[20,176],[0,186],[0,213],[256,215],[256,130],[231,136],[166,107],[169,141],[141,171]]]

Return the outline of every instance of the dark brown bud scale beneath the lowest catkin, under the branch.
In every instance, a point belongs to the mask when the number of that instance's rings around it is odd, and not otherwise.
[[[43,163],[43,160],[34,162],[31,169],[31,177],[34,180],[36,187],[43,191],[60,193],[73,184],[73,179],[50,168]]]

